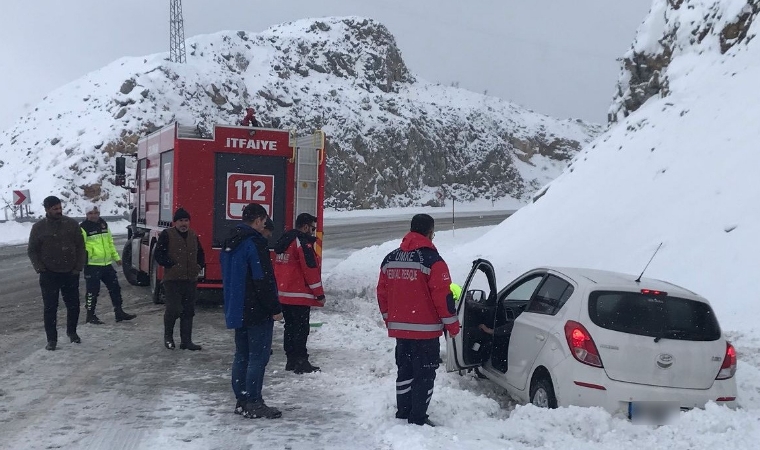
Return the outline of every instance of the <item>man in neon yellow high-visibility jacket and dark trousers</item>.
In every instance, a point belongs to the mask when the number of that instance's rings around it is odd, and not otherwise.
[[[84,280],[87,288],[84,299],[84,309],[87,311],[85,323],[103,324],[103,321],[95,315],[101,282],[108,288],[116,321],[132,320],[137,316],[124,312],[121,307],[121,286],[119,286],[116,270],[111,264],[116,262],[116,264],[121,265],[121,257],[116,251],[108,223],[100,218],[100,209],[97,205],[89,206],[85,214],[87,218],[79,225],[82,228],[84,246],[87,249],[87,265],[84,267]]]

